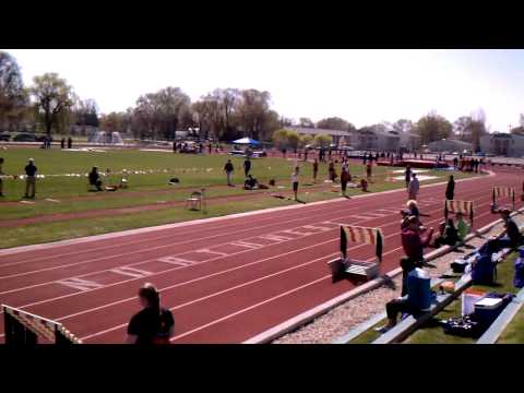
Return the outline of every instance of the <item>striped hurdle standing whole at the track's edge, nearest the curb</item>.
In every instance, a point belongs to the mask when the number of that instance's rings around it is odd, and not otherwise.
[[[352,260],[347,257],[348,241],[376,246],[376,262]],[[341,226],[341,258],[327,262],[333,282],[344,275],[356,275],[372,279],[379,274],[380,262],[382,262],[382,249],[384,237],[379,228],[359,226]]]

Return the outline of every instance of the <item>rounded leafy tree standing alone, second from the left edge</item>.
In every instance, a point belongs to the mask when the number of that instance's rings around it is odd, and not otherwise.
[[[72,87],[66,80],[58,78],[57,73],[45,73],[33,79],[31,94],[41,117],[47,134],[59,119],[67,115],[74,104]]]

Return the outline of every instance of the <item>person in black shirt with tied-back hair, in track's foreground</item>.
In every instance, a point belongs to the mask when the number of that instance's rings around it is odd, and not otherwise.
[[[169,344],[175,335],[175,319],[171,311],[160,307],[160,295],[153,284],[145,283],[139,290],[142,311],[134,314],[128,324],[127,344]]]

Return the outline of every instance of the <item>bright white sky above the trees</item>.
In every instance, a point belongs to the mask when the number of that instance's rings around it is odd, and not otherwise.
[[[57,72],[105,114],[167,86],[193,102],[217,87],[267,91],[281,116],[336,116],[357,128],[430,111],[453,122],[483,108],[491,132],[508,132],[524,114],[524,50],[0,50],[26,85]]]

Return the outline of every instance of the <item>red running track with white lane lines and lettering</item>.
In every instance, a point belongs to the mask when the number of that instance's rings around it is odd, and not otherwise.
[[[521,184],[520,171],[501,169],[495,177],[457,182],[455,199],[475,201],[478,228],[498,218],[489,213],[491,187],[520,190]],[[425,218],[428,226],[442,221],[444,187],[420,191],[421,210],[431,214]],[[405,201],[405,191],[398,191],[13,249],[0,253],[0,302],[58,320],[86,343],[121,343],[140,308],[136,290],[152,282],[174,312],[174,343],[240,343],[357,285],[333,284],[326,266],[337,254],[341,223],[381,227],[381,270],[397,267],[403,254],[398,210]],[[369,246],[350,245],[349,254],[369,259],[373,253]],[[3,341],[1,325],[0,334]]]

